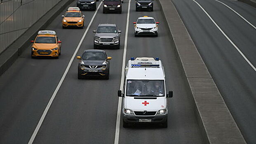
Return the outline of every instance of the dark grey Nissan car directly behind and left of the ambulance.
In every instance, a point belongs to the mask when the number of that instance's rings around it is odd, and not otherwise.
[[[108,57],[103,50],[89,49],[81,56],[77,56],[78,63],[78,79],[85,77],[99,76],[104,79],[109,78],[109,65],[111,57]]]

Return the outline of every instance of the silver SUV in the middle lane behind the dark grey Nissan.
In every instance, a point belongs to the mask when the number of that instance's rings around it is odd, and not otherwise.
[[[100,47],[114,47],[120,49],[120,33],[115,24],[99,24],[97,30],[93,31],[94,36],[94,49]]]

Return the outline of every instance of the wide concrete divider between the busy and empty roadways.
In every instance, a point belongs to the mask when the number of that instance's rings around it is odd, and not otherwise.
[[[204,61],[171,0],[158,0],[181,62],[184,80],[193,95],[195,114],[209,144],[246,144]]]

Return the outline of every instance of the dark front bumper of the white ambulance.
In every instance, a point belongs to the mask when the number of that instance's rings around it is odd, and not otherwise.
[[[140,122],[140,120],[150,120],[151,122]],[[131,116],[123,114],[123,120],[126,123],[164,123],[167,120],[166,115],[159,115],[159,116]]]

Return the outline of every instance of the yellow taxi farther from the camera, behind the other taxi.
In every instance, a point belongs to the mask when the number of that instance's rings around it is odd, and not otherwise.
[[[77,27],[84,28],[85,16],[78,7],[69,7],[65,15],[62,15],[62,28]]]

